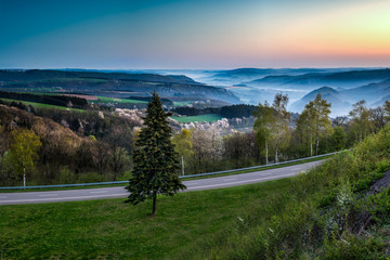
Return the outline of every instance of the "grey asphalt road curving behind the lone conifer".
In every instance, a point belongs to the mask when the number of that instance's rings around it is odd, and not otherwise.
[[[184,181],[183,183],[187,186],[185,192],[238,186],[249,183],[264,182],[292,177],[308,170],[309,168],[315,167],[323,161],[324,160],[318,160],[302,165],[287,166],[277,169],[256,171],[235,176]],[[65,190],[52,192],[0,193],[0,205],[121,198],[127,197],[128,195],[128,192],[122,186],[86,190]]]

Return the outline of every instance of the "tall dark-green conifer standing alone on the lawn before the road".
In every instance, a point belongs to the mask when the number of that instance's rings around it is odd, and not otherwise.
[[[136,205],[153,199],[152,216],[156,214],[157,195],[174,195],[185,185],[179,179],[179,154],[171,142],[172,131],[168,125],[168,114],[164,113],[156,92],[148,103],[145,128],[141,129],[133,153],[133,170],[127,190],[127,203]]]

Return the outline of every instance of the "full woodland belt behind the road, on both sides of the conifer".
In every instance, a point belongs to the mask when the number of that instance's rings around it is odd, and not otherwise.
[[[290,114],[287,102],[287,96],[276,95],[271,105],[210,108],[226,117],[253,113],[255,126],[248,132],[226,131],[230,120],[240,118],[204,125],[171,120],[176,129],[172,142],[184,159],[185,174],[341,151],[378,132],[390,120],[389,102],[369,109],[362,101],[354,104],[349,117],[334,119],[329,117],[332,106],[321,95],[300,115]],[[24,171],[28,185],[127,180],[131,174],[133,140],[143,127],[143,110],[36,109],[17,102],[4,103],[0,109],[1,185],[22,185]],[[28,155],[28,167],[20,169],[16,147],[24,136],[37,142]]]

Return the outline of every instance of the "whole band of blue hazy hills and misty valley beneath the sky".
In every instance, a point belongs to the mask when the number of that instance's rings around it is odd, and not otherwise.
[[[365,100],[368,107],[380,106],[389,100],[390,69],[3,69],[0,87],[11,92],[126,99],[116,104],[120,108],[144,108],[153,91],[159,93],[168,108],[271,104],[275,94],[283,93],[289,98],[287,108],[295,113],[301,113],[304,105],[321,93],[332,103],[330,116],[336,117],[348,115],[352,105],[361,100]]]

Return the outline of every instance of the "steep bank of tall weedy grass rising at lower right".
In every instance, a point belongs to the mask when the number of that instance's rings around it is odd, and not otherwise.
[[[367,196],[390,168],[390,130],[367,138],[306,174],[291,178],[266,221],[251,219],[240,233],[209,248],[210,259],[388,259],[390,188]],[[280,206],[277,206],[280,205]]]

